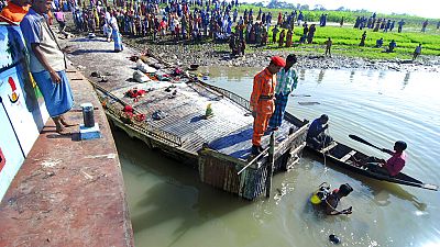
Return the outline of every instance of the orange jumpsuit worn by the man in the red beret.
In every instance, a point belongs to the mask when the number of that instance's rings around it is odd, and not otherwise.
[[[268,120],[275,110],[274,90],[276,74],[272,75],[267,68],[256,74],[251,94],[251,111],[256,112],[252,144],[261,146],[261,138],[267,130]]]

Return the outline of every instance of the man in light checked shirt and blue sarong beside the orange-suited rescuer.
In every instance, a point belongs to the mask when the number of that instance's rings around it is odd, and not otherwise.
[[[286,66],[276,75],[275,112],[268,122],[270,131],[277,131],[282,125],[284,113],[286,112],[288,96],[298,85],[298,76],[296,70],[293,68],[296,63],[296,55],[288,55],[286,58]]]

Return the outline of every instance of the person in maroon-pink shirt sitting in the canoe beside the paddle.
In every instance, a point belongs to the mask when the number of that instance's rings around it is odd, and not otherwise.
[[[369,157],[366,160],[361,161],[361,164],[366,165],[372,171],[388,175],[391,177],[397,176],[402,169],[404,169],[406,164],[406,153],[407,144],[403,141],[397,141],[394,144],[394,151],[383,148],[382,151],[387,153],[392,157],[387,160],[380,159],[376,157]]]

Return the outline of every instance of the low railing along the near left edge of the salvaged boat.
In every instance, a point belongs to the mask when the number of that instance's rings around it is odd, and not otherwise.
[[[90,81],[90,82],[95,87],[95,89],[101,91],[107,98],[111,98],[111,100],[117,101],[122,105],[127,105],[125,102],[123,102],[121,99],[119,99],[113,93],[107,91],[106,89],[103,89],[102,87],[100,87],[99,85],[97,85],[92,81]],[[98,97],[99,97],[99,94],[98,94]],[[106,102],[106,99],[103,99],[102,97],[99,97],[99,98],[100,98],[101,102]],[[122,112],[120,109],[117,109],[112,104],[106,103],[105,108],[110,114],[117,116],[118,119],[121,119],[124,115],[124,112]],[[136,110],[134,110],[134,112],[142,113]],[[177,146],[182,146],[184,143],[179,136],[177,136],[173,133],[160,130],[160,128],[146,123],[145,121],[131,121],[131,123],[129,125],[141,133],[144,133],[146,135],[153,136],[153,137],[162,139],[162,141],[166,141],[168,143],[173,143]]]

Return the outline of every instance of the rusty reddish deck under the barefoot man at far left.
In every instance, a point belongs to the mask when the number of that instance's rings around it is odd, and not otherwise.
[[[68,69],[75,109],[91,102],[102,138],[58,135],[50,120],[0,204],[0,246],[133,246],[124,183],[105,112],[86,78]]]

